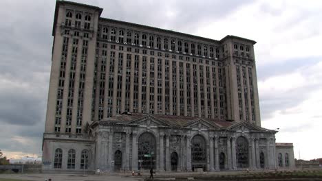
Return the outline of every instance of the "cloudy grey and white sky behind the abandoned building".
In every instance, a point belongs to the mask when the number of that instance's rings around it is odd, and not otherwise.
[[[78,0],[73,0],[78,1]],[[54,0],[0,1],[0,149],[41,156]],[[261,123],[295,158],[322,158],[322,1],[81,1],[103,17],[219,40],[257,41]]]

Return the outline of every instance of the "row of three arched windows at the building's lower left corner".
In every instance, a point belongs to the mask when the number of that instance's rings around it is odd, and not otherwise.
[[[63,165],[63,158],[65,158],[63,150],[61,148],[57,148],[55,150],[55,157],[54,157],[54,169],[61,169]],[[80,159],[80,169],[88,169],[89,168],[89,151],[84,149],[81,152]],[[67,169],[75,169],[76,168],[76,151],[75,149],[69,149],[67,152]]]

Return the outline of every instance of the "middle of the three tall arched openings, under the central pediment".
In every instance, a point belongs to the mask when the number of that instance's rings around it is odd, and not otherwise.
[[[202,168],[206,171],[206,141],[201,135],[196,135],[191,140],[191,167],[193,171]]]

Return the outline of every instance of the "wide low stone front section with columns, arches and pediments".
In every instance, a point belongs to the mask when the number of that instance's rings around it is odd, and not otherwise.
[[[199,119],[178,129],[146,117],[127,124],[100,121],[86,136],[44,134],[43,170],[277,169],[281,166],[279,152],[284,155],[282,165],[293,167],[290,145],[281,149],[275,144],[274,132],[246,122],[219,129]]]

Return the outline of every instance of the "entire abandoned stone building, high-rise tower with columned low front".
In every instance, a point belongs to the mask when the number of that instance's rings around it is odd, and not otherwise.
[[[56,1],[44,171],[277,167],[276,132],[261,128],[254,40],[102,11]]]

